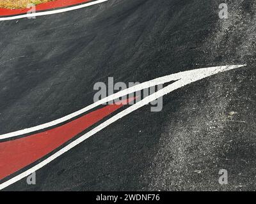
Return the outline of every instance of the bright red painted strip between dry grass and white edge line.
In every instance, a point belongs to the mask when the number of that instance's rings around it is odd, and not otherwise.
[[[92,0],[55,0],[55,1],[36,5],[36,11],[43,11],[43,10],[50,10],[52,8],[72,6],[75,4],[86,3],[89,1],[92,1]],[[25,9],[0,8],[0,16],[19,15],[22,13],[27,13],[28,11],[29,11],[29,8],[25,8]]]

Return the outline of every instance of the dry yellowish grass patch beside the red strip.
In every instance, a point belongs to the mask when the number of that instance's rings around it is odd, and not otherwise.
[[[42,4],[54,0],[0,0],[0,8],[27,8],[28,4]]]

